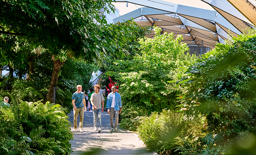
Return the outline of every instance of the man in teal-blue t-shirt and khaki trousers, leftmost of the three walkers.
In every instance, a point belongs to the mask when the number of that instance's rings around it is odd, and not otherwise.
[[[82,91],[82,86],[77,85],[76,86],[77,91],[74,92],[72,95],[72,104],[73,104],[73,111],[74,111],[74,128],[75,131],[77,131],[77,116],[79,114],[79,132],[83,132],[83,120],[84,120],[84,111],[86,111],[86,105],[85,105],[85,96]]]

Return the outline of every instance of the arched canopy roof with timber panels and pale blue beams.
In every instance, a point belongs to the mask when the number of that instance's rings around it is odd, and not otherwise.
[[[123,22],[135,19],[141,26],[156,25],[162,33],[182,34],[187,44],[214,48],[218,42],[225,43],[230,36],[237,37],[256,22],[255,0],[201,0],[213,9],[206,10],[183,6],[163,0],[116,0],[145,6],[108,21]],[[154,37],[154,32],[147,35]]]

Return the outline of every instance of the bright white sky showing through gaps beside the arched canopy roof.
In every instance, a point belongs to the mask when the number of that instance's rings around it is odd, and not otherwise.
[[[201,8],[201,9],[207,9],[207,10],[213,10],[213,8],[201,1],[201,0],[164,0],[166,2],[171,2],[171,3],[175,3],[175,4],[180,4],[180,5],[184,5],[184,6],[189,6],[189,7],[195,7],[195,8]],[[119,9],[119,14],[120,15],[124,15],[126,13],[129,13],[131,11],[137,10],[138,8],[144,7],[144,6],[140,6],[140,5],[135,5],[132,3],[128,3],[128,7],[126,7],[127,2],[112,2],[112,4]]]

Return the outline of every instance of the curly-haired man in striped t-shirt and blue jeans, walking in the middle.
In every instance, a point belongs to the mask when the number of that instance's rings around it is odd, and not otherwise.
[[[91,104],[93,107],[93,124],[94,124],[94,130],[97,130],[97,126],[99,127],[98,132],[101,132],[101,112],[103,112],[104,108],[104,96],[99,92],[100,91],[100,85],[95,84],[94,85],[94,91],[91,95]],[[98,123],[97,123],[98,118]]]

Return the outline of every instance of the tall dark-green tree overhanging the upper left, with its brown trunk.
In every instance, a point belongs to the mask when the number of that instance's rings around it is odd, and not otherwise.
[[[34,46],[48,49],[55,60],[48,94],[57,83],[58,67],[68,54],[86,61],[101,62],[109,54],[122,55],[120,40],[126,40],[119,28],[106,24],[99,10],[113,10],[112,0],[5,0],[0,1],[1,43],[10,37],[25,38]],[[108,6],[108,7],[106,7]],[[108,27],[108,28],[107,28]],[[119,31],[120,30],[120,31]],[[62,61],[61,63],[59,61]],[[59,66],[60,65],[60,66]],[[48,98],[52,101],[52,98]]]

